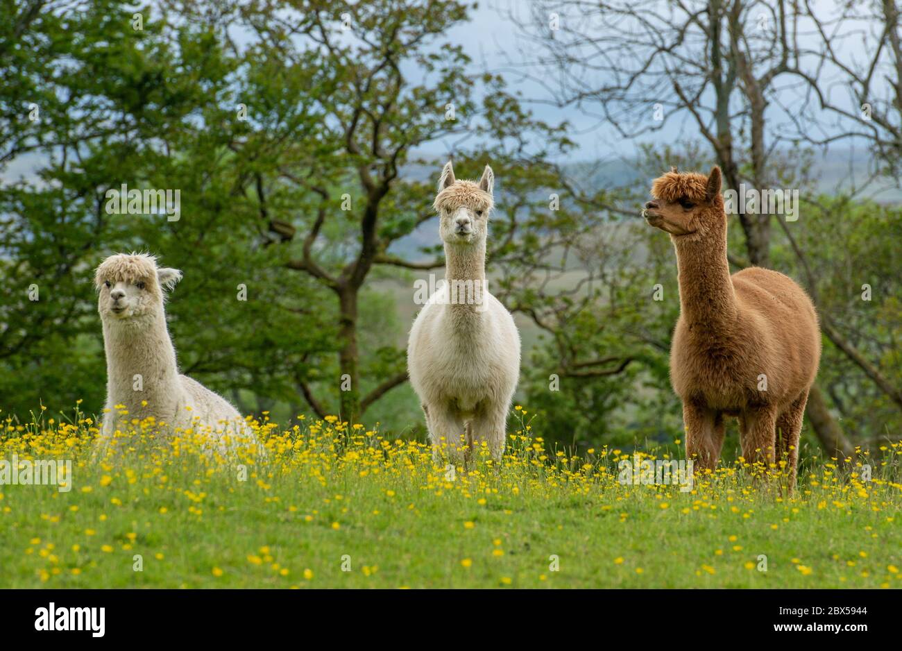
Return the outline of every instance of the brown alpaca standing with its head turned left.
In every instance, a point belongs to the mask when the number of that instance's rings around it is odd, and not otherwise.
[[[651,195],[645,218],[670,234],[676,249],[680,316],[670,380],[683,400],[686,456],[713,470],[723,417],[737,416],[742,456],[770,464],[786,454],[791,488],[821,357],[815,306],[777,271],[751,267],[730,275],[720,168],[708,177],[671,170],[655,180]]]

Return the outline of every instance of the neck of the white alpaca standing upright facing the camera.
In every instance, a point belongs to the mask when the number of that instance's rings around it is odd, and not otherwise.
[[[456,324],[472,325],[483,314],[485,287],[485,241],[472,244],[445,243],[445,281],[451,314]]]

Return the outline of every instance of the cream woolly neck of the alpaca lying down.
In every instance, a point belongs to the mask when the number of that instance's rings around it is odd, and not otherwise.
[[[162,310],[135,323],[104,321],[104,348],[113,404],[124,404],[133,415],[170,408],[162,403],[172,395],[179,371]]]

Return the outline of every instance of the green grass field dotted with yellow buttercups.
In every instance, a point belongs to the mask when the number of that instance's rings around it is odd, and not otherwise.
[[[791,498],[741,462],[683,492],[621,484],[632,451],[549,451],[516,415],[500,465],[477,450],[453,476],[427,445],[333,418],[255,423],[261,462],[190,432],[152,445],[149,423],[101,453],[81,415],[6,419],[0,458],[70,459],[72,485],[0,486],[0,586],[902,587],[902,445],[806,460]]]

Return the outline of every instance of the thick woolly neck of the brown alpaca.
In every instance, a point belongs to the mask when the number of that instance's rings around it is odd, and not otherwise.
[[[736,295],[727,261],[726,230],[701,241],[676,240],[680,315],[710,331],[737,317]]]

